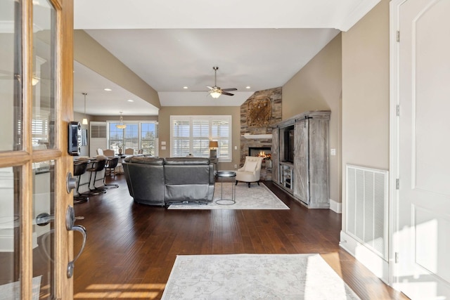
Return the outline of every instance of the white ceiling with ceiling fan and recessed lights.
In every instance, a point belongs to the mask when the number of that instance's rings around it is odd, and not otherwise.
[[[77,0],[75,29],[86,30],[158,91],[162,106],[240,105],[254,91],[283,86],[379,1]],[[217,86],[238,89],[235,96],[208,96],[213,66]],[[83,112],[86,92],[91,115],[158,114],[88,67],[75,64],[75,111]],[[103,91],[106,85],[113,91]]]

